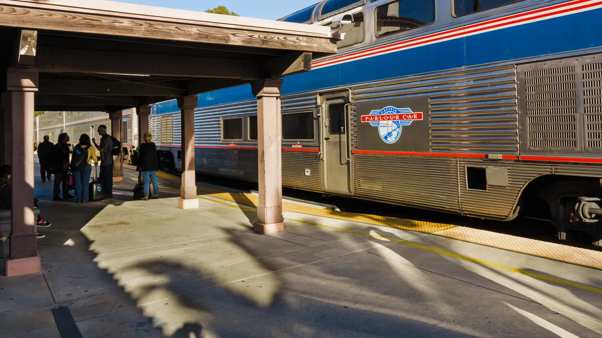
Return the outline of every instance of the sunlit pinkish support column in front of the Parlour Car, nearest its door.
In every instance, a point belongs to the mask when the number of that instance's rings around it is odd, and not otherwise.
[[[282,79],[263,79],[253,84],[257,97],[257,144],[259,162],[259,205],[256,233],[284,231],[282,217]]]

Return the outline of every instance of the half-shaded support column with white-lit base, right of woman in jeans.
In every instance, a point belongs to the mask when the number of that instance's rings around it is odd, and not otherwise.
[[[199,207],[194,170],[194,108],[196,108],[198,100],[196,95],[178,97],[178,108],[180,108],[182,117],[182,186],[178,200],[180,209]]]

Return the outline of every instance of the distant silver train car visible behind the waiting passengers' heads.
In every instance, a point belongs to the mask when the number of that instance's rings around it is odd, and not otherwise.
[[[134,117],[135,118],[135,117]],[[132,162],[131,154],[138,140],[137,123],[132,124],[132,111],[123,111],[122,146],[124,161]],[[106,112],[94,111],[49,111],[36,117],[36,130],[34,132],[36,143],[43,141],[45,135],[55,143],[58,134],[66,132],[71,137],[70,143],[78,143],[81,134],[88,134],[90,138],[96,137],[96,129],[100,124],[107,126],[107,133],[111,135],[111,120]],[[97,140],[100,141],[100,140]]]

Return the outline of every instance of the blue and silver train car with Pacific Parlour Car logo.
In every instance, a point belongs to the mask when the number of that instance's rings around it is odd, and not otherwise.
[[[283,21],[353,23],[338,53],[282,88],[285,186],[512,220],[544,203],[561,239],[602,179],[600,0],[324,0]],[[166,169],[181,169],[175,102],[154,106]],[[257,180],[256,100],[199,95],[196,170]],[[577,209],[576,209],[577,208]]]

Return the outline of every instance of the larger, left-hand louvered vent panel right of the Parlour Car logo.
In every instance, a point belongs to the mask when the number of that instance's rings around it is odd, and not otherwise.
[[[575,67],[525,72],[528,149],[576,150]]]

